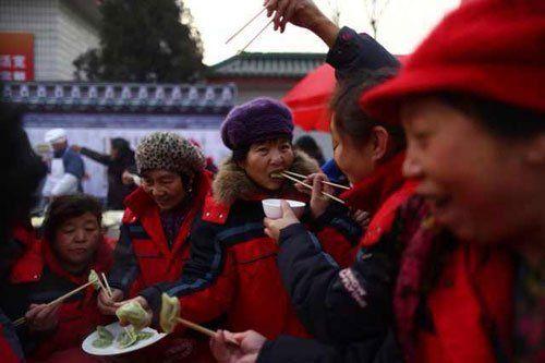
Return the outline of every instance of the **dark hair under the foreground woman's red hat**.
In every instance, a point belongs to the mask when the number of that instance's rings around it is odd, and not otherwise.
[[[545,132],[545,114],[479,96],[444,93],[439,99],[472,117],[496,137],[524,141]]]

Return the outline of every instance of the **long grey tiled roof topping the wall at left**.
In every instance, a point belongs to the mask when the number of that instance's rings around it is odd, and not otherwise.
[[[232,83],[135,84],[83,82],[7,82],[1,100],[31,110],[98,112],[226,113],[234,105]]]

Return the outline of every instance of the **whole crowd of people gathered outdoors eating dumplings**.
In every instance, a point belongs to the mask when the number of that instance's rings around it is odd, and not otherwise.
[[[108,156],[55,130],[46,186],[47,186],[38,234],[28,210],[48,168],[2,106],[0,146],[16,156],[0,216],[2,361],[108,361],[84,353],[83,339],[128,303],[160,330],[164,294],[214,337],[178,325],[116,360],[544,361],[545,3],[463,2],[404,64],[311,0],[264,5],[275,29],[291,23],[329,47],[330,162],[293,143],[290,110],[265,97],[226,117],[231,155],[217,173],[172,132],[134,153],[113,140]],[[101,205],[72,191],[80,155],[108,167],[108,207],[124,208],[117,241],[101,233]],[[123,183],[132,174],[140,185]],[[306,207],[282,202],[267,218],[265,198]],[[90,269],[111,293],[88,287],[50,304]]]

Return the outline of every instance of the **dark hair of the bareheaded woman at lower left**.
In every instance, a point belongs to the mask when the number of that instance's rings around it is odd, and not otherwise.
[[[47,210],[44,220],[44,238],[50,243],[59,227],[66,220],[81,217],[86,213],[93,214],[100,226],[102,220],[102,206],[97,198],[86,194],[62,195],[57,197]]]

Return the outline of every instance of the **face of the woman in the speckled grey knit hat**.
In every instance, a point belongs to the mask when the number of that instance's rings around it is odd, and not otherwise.
[[[154,169],[144,172],[142,187],[161,210],[177,207],[186,195],[182,177],[167,170]]]

